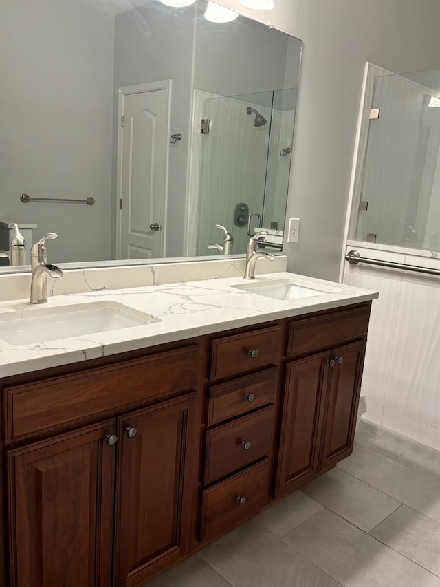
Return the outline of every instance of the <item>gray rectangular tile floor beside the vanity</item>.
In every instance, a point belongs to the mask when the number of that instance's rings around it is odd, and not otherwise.
[[[356,441],[148,587],[440,587],[440,452],[365,421]]]

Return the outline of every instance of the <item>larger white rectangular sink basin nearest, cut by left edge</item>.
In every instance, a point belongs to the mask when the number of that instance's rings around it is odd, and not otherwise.
[[[156,322],[161,320],[122,303],[91,301],[58,308],[29,308],[21,312],[20,318],[17,311],[0,314],[0,339],[23,346]]]

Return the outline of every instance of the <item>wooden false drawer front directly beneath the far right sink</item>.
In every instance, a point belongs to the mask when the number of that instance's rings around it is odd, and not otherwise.
[[[366,337],[369,318],[370,307],[365,306],[291,322],[287,355],[317,352],[334,347],[339,341]]]

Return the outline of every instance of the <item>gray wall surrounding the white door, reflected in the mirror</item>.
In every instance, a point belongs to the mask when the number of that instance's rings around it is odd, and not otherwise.
[[[118,88],[173,80],[170,130],[171,133],[181,133],[183,139],[169,150],[166,257],[184,255],[184,178],[188,162],[192,100],[193,17],[192,10],[182,10],[177,19],[170,16],[169,8],[154,3],[115,18],[115,115],[118,114]],[[116,136],[115,130],[114,162],[117,156]],[[114,164],[113,198],[115,169]]]

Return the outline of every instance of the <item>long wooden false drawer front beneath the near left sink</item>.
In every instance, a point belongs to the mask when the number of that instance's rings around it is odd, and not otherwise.
[[[5,387],[6,441],[51,430],[124,405],[195,387],[191,346],[38,383]]]

